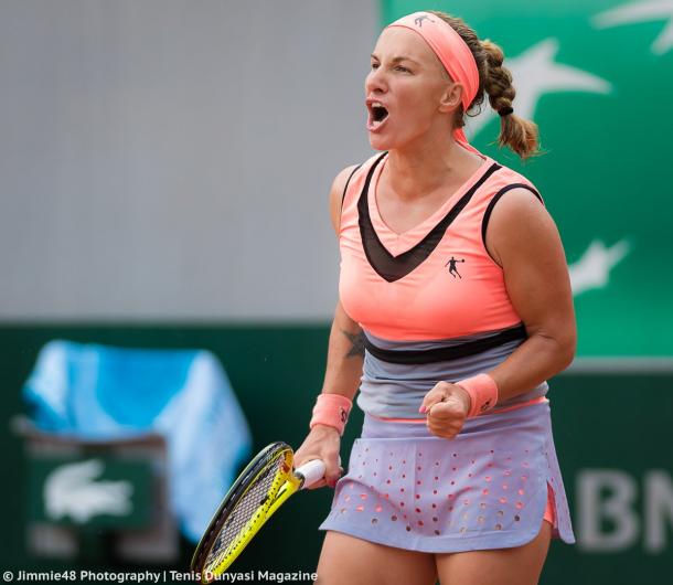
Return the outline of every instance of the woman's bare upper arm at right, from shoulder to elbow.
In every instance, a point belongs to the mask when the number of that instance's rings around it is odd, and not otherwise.
[[[575,352],[576,326],[568,266],[554,220],[525,189],[512,189],[494,206],[485,244],[502,266],[514,309],[528,334],[542,334]]]

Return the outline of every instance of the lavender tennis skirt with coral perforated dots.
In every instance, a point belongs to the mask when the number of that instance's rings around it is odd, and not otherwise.
[[[554,536],[573,543],[548,402],[469,419],[450,440],[365,415],[320,530],[428,553],[520,546],[540,532],[547,483]]]

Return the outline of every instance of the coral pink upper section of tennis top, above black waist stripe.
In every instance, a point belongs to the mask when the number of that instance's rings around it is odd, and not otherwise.
[[[366,333],[386,340],[447,340],[521,323],[503,270],[487,252],[492,206],[508,190],[532,183],[481,155],[483,163],[435,213],[397,234],[376,204],[387,153],[368,159],[344,190],[339,291]]]

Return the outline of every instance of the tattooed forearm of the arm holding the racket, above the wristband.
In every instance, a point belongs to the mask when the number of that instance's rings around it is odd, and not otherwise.
[[[336,304],[330,332],[328,363],[322,392],[353,398],[360,387],[364,360],[364,333]]]

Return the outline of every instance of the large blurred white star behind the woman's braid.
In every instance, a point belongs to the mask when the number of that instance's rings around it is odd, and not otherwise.
[[[509,59],[504,66],[512,72],[516,97],[513,102],[514,114],[532,120],[537,100],[543,94],[560,92],[587,92],[609,94],[612,86],[606,79],[586,71],[563,65],[554,61],[558,53],[558,41],[546,39],[533,45],[516,57]],[[496,114],[488,103],[482,105],[482,113],[473,118],[468,117],[467,131],[474,136]]]

